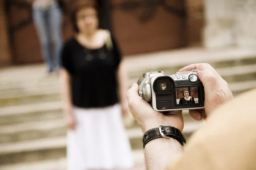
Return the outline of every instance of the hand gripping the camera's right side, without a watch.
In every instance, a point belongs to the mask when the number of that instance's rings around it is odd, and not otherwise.
[[[189,110],[189,115],[196,120],[201,120],[210,116],[215,108],[233,99],[233,94],[228,83],[208,63],[188,65],[180,71],[193,69],[197,69],[198,78],[204,85],[205,102],[204,109]]]

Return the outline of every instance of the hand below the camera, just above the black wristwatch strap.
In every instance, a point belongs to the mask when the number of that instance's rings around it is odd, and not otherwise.
[[[127,91],[126,97],[129,109],[143,133],[160,125],[173,126],[182,132],[184,126],[182,111],[172,111],[168,114],[154,111],[151,105],[139,96],[138,91],[139,86],[134,83]]]

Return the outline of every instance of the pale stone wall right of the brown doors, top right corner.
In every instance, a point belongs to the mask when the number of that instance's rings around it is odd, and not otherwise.
[[[256,47],[256,0],[205,0],[206,48]]]

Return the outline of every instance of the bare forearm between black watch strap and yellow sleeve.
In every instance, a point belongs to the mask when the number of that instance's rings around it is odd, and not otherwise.
[[[153,139],[145,145],[144,155],[147,170],[165,170],[170,161],[183,154],[183,146],[173,138]]]

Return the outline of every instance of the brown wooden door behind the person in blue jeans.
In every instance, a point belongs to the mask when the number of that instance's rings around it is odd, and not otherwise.
[[[42,62],[38,34],[32,21],[32,4],[23,0],[6,0],[6,14],[11,43],[12,62]],[[69,20],[64,20],[63,39],[73,34]]]

